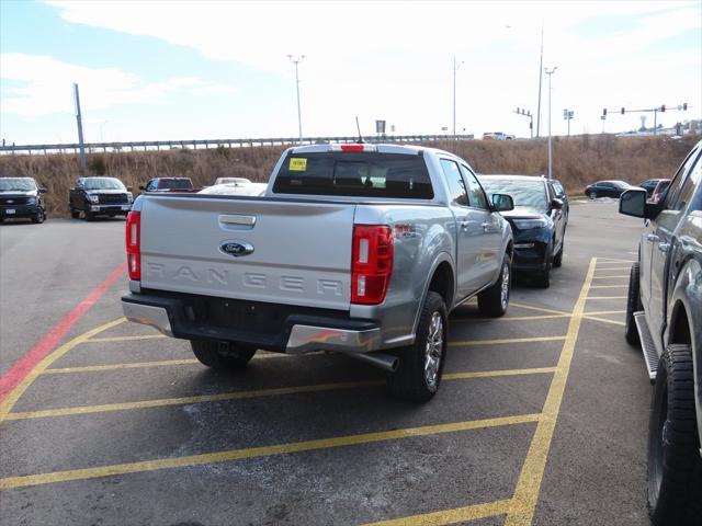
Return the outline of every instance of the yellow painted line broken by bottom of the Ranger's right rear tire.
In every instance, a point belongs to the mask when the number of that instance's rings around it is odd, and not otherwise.
[[[471,378],[495,378],[500,376],[542,375],[554,373],[555,367],[536,367],[531,369],[497,369],[472,370],[464,373],[449,373],[443,379],[464,380]],[[72,416],[80,414],[106,413],[112,411],[131,411],[135,409],[165,408],[169,405],[188,405],[192,403],[220,402],[226,400],[245,400],[251,398],[275,397],[283,395],[298,395],[303,392],[319,392],[340,389],[356,389],[383,385],[383,380],[344,381],[335,384],[317,384],[312,386],[280,387],[270,389],[256,389],[250,391],[233,391],[218,395],[196,395],[192,397],[161,398],[155,400],[141,400],[136,402],[104,403],[101,405],[76,405],[72,408],[45,409],[38,411],[18,411],[9,413],[5,421],[47,419],[55,416]]]

